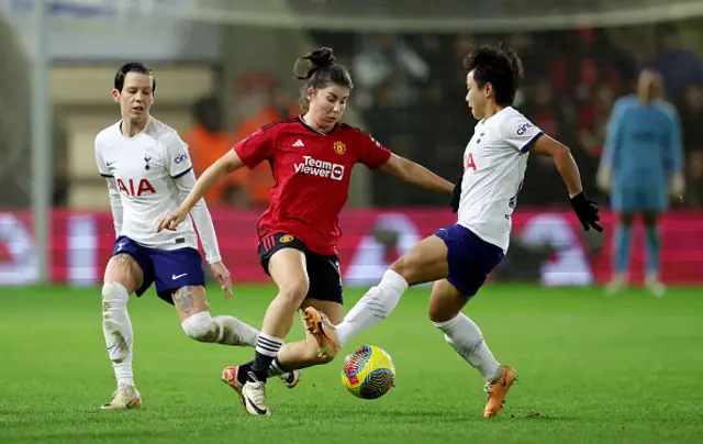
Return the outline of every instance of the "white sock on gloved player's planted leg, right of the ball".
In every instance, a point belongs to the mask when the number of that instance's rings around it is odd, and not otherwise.
[[[483,341],[479,326],[466,314],[459,313],[447,322],[433,322],[444,332],[444,338],[457,353],[483,376],[487,381],[494,381],[501,376],[501,364]]]

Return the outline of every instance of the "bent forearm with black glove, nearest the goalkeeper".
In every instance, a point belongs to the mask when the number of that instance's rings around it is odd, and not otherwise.
[[[598,214],[598,204],[583,193],[581,175],[576,160],[571,156],[571,151],[548,135],[542,135],[537,138],[532,151],[554,159],[557,170],[559,170],[559,175],[561,175],[569,190],[569,202],[573,207],[581,225],[583,225],[583,230],[589,231],[593,227],[598,232],[603,231],[601,225],[598,224],[598,221],[601,220]]]

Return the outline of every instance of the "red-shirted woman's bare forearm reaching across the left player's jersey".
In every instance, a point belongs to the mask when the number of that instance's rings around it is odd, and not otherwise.
[[[217,181],[243,166],[244,163],[234,149],[220,157],[214,164],[205,169],[202,176],[198,178],[196,186],[190,190],[181,204],[158,221],[156,232],[158,233],[163,230],[176,230],[178,224],[186,220],[188,213]]]

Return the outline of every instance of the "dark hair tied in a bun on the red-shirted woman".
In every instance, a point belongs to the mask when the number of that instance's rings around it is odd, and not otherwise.
[[[300,73],[300,65],[308,60],[304,74]],[[300,57],[293,66],[293,74],[298,80],[305,80],[301,88],[300,106],[308,107],[308,88],[315,90],[326,87],[328,84],[338,85],[349,89],[354,88],[352,76],[346,66],[336,63],[332,48],[321,47],[314,49],[304,57]]]

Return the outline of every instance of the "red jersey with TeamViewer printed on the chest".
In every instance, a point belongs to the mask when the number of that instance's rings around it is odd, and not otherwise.
[[[300,116],[263,126],[233,149],[249,168],[263,160],[271,164],[276,184],[258,223],[259,238],[289,233],[323,255],[337,254],[342,234],[337,219],[347,201],[354,165],[375,169],[391,157],[360,130],[342,123],[321,134]]]

